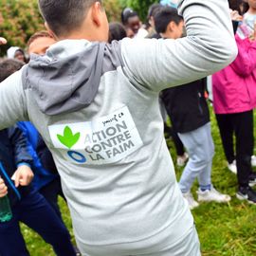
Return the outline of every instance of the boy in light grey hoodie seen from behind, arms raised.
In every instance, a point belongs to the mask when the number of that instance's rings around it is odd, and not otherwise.
[[[2,82],[0,128],[29,119],[44,137],[82,255],[200,255],[158,93],[233,61],[227,0],[179,1],[186,38],[111,45],[101,1],[39,6],[59,42]]]

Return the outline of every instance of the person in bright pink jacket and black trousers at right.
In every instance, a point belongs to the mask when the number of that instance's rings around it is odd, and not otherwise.
[[[242,40],[236,35],[235,40],[239,51],[236,60],[212,76],[213,107],[229,165],[236,161],[237,198],[256,204],[256,192],[250,188],[256,184],[256,174],[251,168],[253,108],[256,107],[256,38],[253,35]]]

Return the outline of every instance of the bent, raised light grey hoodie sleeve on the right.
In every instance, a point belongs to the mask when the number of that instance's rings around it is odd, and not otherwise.
[[[123,70],[134,84],[158,92],[206,77],[235,59],[227,0],[183,0],[178,10],[187,37],[121,42]]]

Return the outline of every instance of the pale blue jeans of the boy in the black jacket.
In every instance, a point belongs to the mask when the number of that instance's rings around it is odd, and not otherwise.
[[[198,178],[201,186],[210,185],[211,164],[214,155],[210,122],[192,132],[178,134],[178,136],[190,155],[179,181],[181,192],[190,192],[195,178]]]

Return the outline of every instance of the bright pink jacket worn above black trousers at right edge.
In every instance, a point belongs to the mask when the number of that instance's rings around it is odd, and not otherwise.
[[[256,41],[235,37],[238,56],[232,64],[212,76],[216,114],[249,111],[256,106]]]

